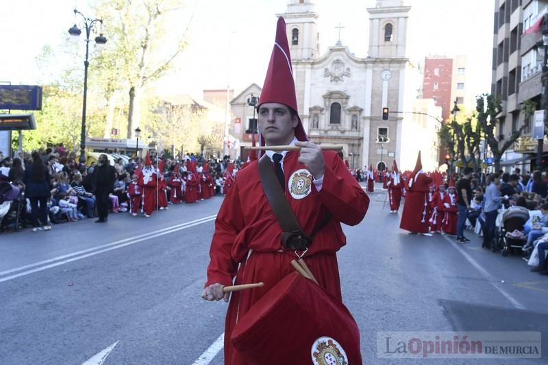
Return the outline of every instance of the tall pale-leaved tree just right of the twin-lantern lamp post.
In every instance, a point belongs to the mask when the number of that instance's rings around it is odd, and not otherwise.
[[[145,88],[169,71],[186,47],[186,32],[174,41],[172,33],[167,32],[176,27],[172,15],[182,9],[183,3],[182,0],[100,0],[97,3],[97,16],[103,18],[116,56],[116,75],[123,77],[129,88],[127,138],[132,137],[134,127],[140,126],[140,101]],[[114,80],[113,86],[119,84],[119,78]]]

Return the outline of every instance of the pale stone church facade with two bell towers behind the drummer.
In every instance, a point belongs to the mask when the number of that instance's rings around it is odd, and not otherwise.
[[[309,0],[290,0],[286,12],[277,14],[286,20],[299,114],[308,136],[318,143],[343,144],[354,168],[391,167],[405,153],[405,115],[397,112],[406,104],[409,10],[402,0],[379,0],[367,9],[366,58],[357,58],[340,40],[319,54],[319,15]],[[385,107],[388,120],[382,119]]]

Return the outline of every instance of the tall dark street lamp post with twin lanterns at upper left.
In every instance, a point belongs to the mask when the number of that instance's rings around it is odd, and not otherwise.
[[[93,31],[96,32],[96,25],[99,23],[101,25],[101,29],[99,30],[99,36],[95,37],[95,44],[97,45],[97,48],[99,50],[104,47],[104,45],[107,42],[107,38],[103,36],[102,33],[102,27],[103,27],[103,20],[102,19],[90,19],[87,18],[84,14],[79,12],[78,10],[74,10],[74,16],[76,14],[79,14],[84,18],[84,27],[86,28],[86,60],[84,61],[84,101],[82,103],[82,131],[80,133],[80,158],[79,161],[82,164],[86,163],[86,99],[88,97],[88,56],[89,56],[89,48],[90,48],[90,33]],[[73,39],[77,40],[82,34],[82,31],[77,27],[76,23],[69,29],[69,34],[73,37]]]

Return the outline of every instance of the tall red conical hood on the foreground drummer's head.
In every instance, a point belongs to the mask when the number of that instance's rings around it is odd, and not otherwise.
[[[282,16],[278,18],[276,27],[276,39],[269,68],[262,86],[259,109],[264,103],[282,103],[299,114],[297,108],[297,97],[295,95],[295,79],[293,79],[293,68],[291,66],[291,55],[287,42],[286,21]],[[308,140],[303,123],[299,117],[299,123],[295,127],[297,140]],[[264,139],[259,129],[259,144],[264,146]],[[259,153],[260,155],[260,153]]]

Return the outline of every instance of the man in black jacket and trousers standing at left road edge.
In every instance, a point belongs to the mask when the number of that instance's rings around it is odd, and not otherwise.
[[[99,156],[99,163],[93,170],[93,192],[97,200],[97,214],[99,219],[95,223],[104,223],[108,220],[110,199],[108,194],[114,189],[116,180],[114,166],[110,166],[107,155]]]

